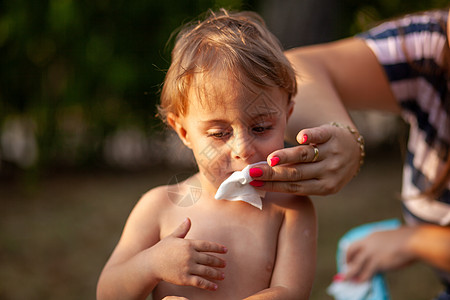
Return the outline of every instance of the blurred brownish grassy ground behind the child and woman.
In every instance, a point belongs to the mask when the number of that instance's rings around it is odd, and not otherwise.
[[[313,197],[319,217],[318,265],[311,299],[331,299],[339,238],[362,223],[401,218],[401,163],[372,154],[346,188]],[[95,299],[98,275],[140,195],[177,170],[60,173],[32,189],[0,182],[0,299]],[[416,264],[387,276],[393,300],[431,299],[433,272]]]

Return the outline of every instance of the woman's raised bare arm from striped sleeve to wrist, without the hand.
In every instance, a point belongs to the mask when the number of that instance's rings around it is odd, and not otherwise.
[[[298,92],[287,135],[303,128],[339,122],[354,127],[347,109],[399,113],[386,74],[364,41],[294,48],[286,56],[297,72]]]

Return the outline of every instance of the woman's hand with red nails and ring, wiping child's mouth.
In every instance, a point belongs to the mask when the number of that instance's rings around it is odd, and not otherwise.
[[[322,125],[304,129],[297,141],[300,146],[271,153],[269,166],[252,168],[251,184],[266,191],[329,195],[338,192],[359,170],[360,144],[347,128]]]

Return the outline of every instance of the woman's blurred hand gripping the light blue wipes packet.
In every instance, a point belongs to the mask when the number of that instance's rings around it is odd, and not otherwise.
[[[413,262],[411,251],[414,227],[378,231],[353,242],[347,250],[345,279],[367,281],[378,272],[399,269]]]

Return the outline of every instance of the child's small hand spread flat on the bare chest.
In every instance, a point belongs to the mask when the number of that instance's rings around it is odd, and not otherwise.
[[[210,280],[223,280],[225,261],[213,253],[226,253],[227,248],[217,243],[189,240],[184,237],[191,228],[187,218],[171,235],[152,247],[157,260],[154,261],[155,274],[159,280],[177,285],[189,285],[214,291],[217,284]]]

